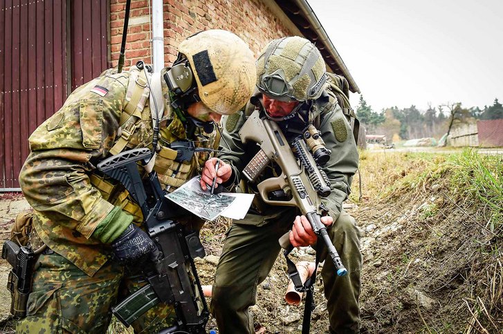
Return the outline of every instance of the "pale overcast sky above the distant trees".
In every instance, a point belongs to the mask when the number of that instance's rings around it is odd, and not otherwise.
[[[374,110],[503,101],[503,0],[308,1]]]

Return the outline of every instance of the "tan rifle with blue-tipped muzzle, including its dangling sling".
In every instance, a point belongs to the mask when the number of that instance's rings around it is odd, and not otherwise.
[[[336,266],[337,275],[347,275],[347,269],[342,265],[339,254],[327,233],[327,228],[320,219],[322,215],[328,212],[327,207],[324,206],[321,199],[330,195],[330,180],[323,170],[318,168],[304,139],[298,137],[293,140],[293,143],[289,144],[280,126],[274,121],[261,119],[257,110],[250,115],[241,127],[239,137],[241,137],[243,143],[255,141],[260,145],[259,152],[243,170],[243,175],[247,179],[254,182],[271,161],[275,161],[282,169],[282,174],[279,177],[271,177],[257,184],[262,200],[266,204],[275,206],[298,207],[302,215],[306,216],[309,224],[311,224],[313,232],[318,236],[315,266],[318,267],[321,251],[326,250],[333,264]],[[327,152],[327,154],[329,153]],[[322,154],[324,156],[322,159],[325,162],[327,154]],[[318,159],[318,161],[322,159]],[[322,242],[319,242],[320,239]],[[298,292],[307,292],[302,334],[309,334],[311,312],[313,311],[314,303],[313,284],[316,279],[316,269],[313,275],[302,284],[295,264],[288,257],[293,249],[293,246],[289,242],[288,233],[281,237],[280,244],[284,248],[286,264],[289,267],[289,276],[295,284],[295,290]]]

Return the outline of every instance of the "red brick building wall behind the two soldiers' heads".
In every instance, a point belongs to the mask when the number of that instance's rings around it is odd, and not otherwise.
[[[110,1],[111,61],[117,66],[122,41],[126,0]],[[149,14],[149,1],[132,0],[125,52],[125,67],[139,59],[150,62],[149,23],[131,19]],[[165,65],[176,59],[176,47],[200,30],[225,29],[241,37],[259,55],[268,41],[291,35],[261,0],[164,0]]]

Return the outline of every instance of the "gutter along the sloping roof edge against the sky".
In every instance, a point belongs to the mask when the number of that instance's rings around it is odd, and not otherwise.
[[[325,46],[327,46],[330,55],[336,61],[339,68],[342,70],[342,73],[346,77],[347,81],[349,81],[349,87],[353,88],[351,91],[359,93],[360,88],[358,88],[358,85],[356,84],[353,77],[349,73],[346,64],[344,63],[344,61],[342,61],[342,58],[340,58],[339,52],[337,52],[336,48],[333,46],[332,42],[330,41],[330,38],[327,35],[327,32],[325,32],[320,21],[318,20],[318,17],[316,17],[316,14],[313,12],[313,9],[311,8],[311,6],[309,6],[309,3],[307,3],[306,0],[294,0],[294,1],[300,8],[300,10],[302,10],[302,12],[306,15],[307,21],[309,21],[313,30],[315,30],[315,32],[318,34],[320,40],[324,43]]]

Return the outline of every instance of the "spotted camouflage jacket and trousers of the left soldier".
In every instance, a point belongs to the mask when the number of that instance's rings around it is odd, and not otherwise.
[[[103,72],[77,88],[62,108],[30,136],[31,153],[19,182],[34,209],[33,228],[55,254],[40,257],[30,295],[32,310],[19,324],[21,333],[102,333],[109,324],[109,308],[117,301],[123,268],[109,261],[110,246],[92,235],[113,208],[134,212],[136,204],[122,185],[111,184],[113,193],[104,193],[93,186],[90,177],[95,176],[95,166],[109,156],[118,139],[128,82],[129,72]],[[172,112],[164,80],[162,90],[165,114],[161,120],[161,146],[187,137],[183,124]],[[128,148],[152,146],[148,103]],[[202,142],[206,147],[214,146],[217,138],[214,133],[196,135],[207,135],[208,140]],[[183,180],[199,173],[201,161],[208,157],[208,153],[194,155]],[[141,215],[135,217],[141,225]],[[194,226],[200,227],[200,222]],[[171,313],[169,306],[153,308],[134,326],[158,331],[165,325],[164,319],[171,321]]]

